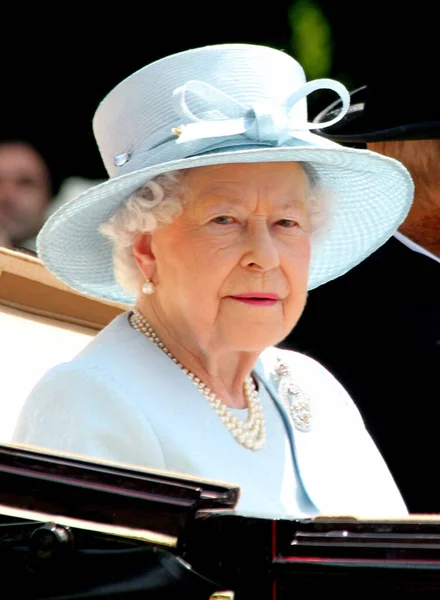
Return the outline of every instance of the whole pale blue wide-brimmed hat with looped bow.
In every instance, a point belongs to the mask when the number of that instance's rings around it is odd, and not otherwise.
[[[413,198],[399,162],[315,135],[306,96],[328,88],[348,109],[340,83],[306,82],[287,53],[220,44],[155,61],[117,85],[93,120],[109,179],[63,205],[42,228],[37,251],[72,288],[131,304],[113,275],[111,242],[100,232],[124,201],[153,177],[226,163],[309,163],[332,193],[328,230],[312,241],[309,289],[357,265],[397,229]],[[318,127],[322,127],[320,124]],[[179,257],[176,256],[176,260]]]

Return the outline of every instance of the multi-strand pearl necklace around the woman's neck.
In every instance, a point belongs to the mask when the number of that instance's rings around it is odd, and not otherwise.
[[[249,411],[247,420],[243,422],[233,415],[229,408],[223,404],[219,398],[217,398],[217,395],[207,385],[200,381],[200,379],[196,377],[194,373],[191,373],[191,371],[185,369],[185,367],[177,360],[177,358],[171,354],[168,348],[165,347],[163,342],[160,341],[151,325],[148,323],[148,321],[146,321],[141,313],[135,310],[130,314],[129,319],[133,329],[144,334],[158,348],[160,348],[185,373],[185,375],[187,375],[199,392],[205,396],[216,414],[220,417],[220,420],[232,433],[239,444],[248,450],[260,450],[264,446],[266,442],[264,413],[252,377],[246,377],[243,384],[243,392],[247,400]]]

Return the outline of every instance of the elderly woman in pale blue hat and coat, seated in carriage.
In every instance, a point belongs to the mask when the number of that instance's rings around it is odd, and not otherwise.
[[[400,163],[309,131],[321,88],[342,118],[341,84],[227,44],[109,93],[94,132],[110,178],[59,209],[38,250],[72,288],[133,310],[43,377],[15,442],[238,484],[242,513],[406,513],[346,391],[275,348],[307,290],[385,242],[412,200]]]

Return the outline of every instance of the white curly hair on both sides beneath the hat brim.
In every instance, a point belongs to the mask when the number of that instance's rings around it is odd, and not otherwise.
[[[330,194],[328,190],[324,194],[313,167],[304,162],[301,165],[309,181],[307,205],[312,237],[316,241],[330,219]],[[115,279],[134,296],[138,295],[143,279],[133,256],[132,245],[140,233],[152,232],[167,225],[182,213],[184,176],[185,172],[181,170],[151,179],[100,226],[101,233],[113,244]]]

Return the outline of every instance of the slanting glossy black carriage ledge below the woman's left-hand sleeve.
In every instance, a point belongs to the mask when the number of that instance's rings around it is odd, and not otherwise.
[[[0,446],[0,505],[179,536],[202,508],[229,508],[234,486]]]

